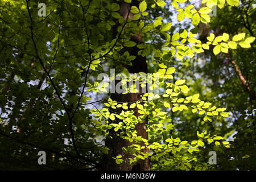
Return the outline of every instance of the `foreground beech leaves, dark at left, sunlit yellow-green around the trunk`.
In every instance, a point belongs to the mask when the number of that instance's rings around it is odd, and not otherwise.
[[[0,168],[8,163],[10,169],[98,169],[102,154],[109,151],[104,139],[111,137],[110,129],[131,143],[123,148],[125,154],[114,158],[116,163],[123,163],[123,155],[133,155],[130,164],[150,157],[152,170],[210,169],[208,151],[230,148],[225,140],[228,134],[213,131],[221,127],[214,123],[226,125],[229,110],[203,101],[202,94],[195,92],[198,85],[191,90],[182,76],[175,80],[175,74],[179,60],[189,61],[208,49],[218,55],[251,47],[254,36],[243,32],[196,38],[199,23],[212,19],[213,5],[229,8],[238,6],[238,1],[203,0],[206,5],[197,9],[192,2],[175,0],[171,6],[177,21],[189,20],[193,27],[177,26],[178,30],[174,22],[152,14],[166,10],[167,1],[147,0],[131,6],[133,19],[124,19],[115,1],[42,2],[46,17],[38,16],[39,1],[0,3]],[[131,40],[140,30],[144,42]],[[114,66],[117,73],[127,75],[123,65],[131,65],[135,57],[121,50],[135,46],[140,49],[138,55],[147,56],[148,65],[154,67],[150,70],[154,81],[159,80],[159,93],[145,93],[143,103],[119,103],[102,93],[109,85],[99,87],[97,77],[107,73],[113,79],[110,68]],[[122,111],[113,113],[117,108]],[[134,108],[141,114],[138,118]],[[185,121],[200,123],[199,129],[181,135],[174,120],[178,112]],[[135,130],[146,117],[148,140]],[[109,124],[115,118],[122,122]],[[141,142],[150,152],[141,152]],[[36,165],[39,150],[50,154],[47,166]]]

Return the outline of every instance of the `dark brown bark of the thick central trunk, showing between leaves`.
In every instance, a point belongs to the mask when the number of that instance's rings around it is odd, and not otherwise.
[[[133,14],[129,14],[129,10],[131,6],[138,6],[136,5],[138,3],[135,1],[135,3],[132,3],[131,5],[129,3],[121,2],[120,3],[120,10],[119,14],[123,16],[124,19],[126,17],[132,18]],[[135,42],[142,42],[142,36],[139,34],[135,36],[131,36],[131,40],[134,40]],[[132,66],[126,67],[130,73],[138,73],[138,72],[144,72],[147,73],[147,63],[146,63],[146,57],[138,56],[139,49],[135,46],[132,48],[124,48],[122,50],[123,52],[129,51],[130,55],[136,56],[136,59],[131,61]],[[118,94],[118,93],[112,93],[111,98],[114,101],[117,102],[136,102],[136,101],[143,101],[141,98],[141,88],[139,93],[127,93],[127,94]],[[128,104],[129,106],[130,104]],[[114,109],[113,111],[110,110],[110,112],[121,112],[122,109]],[[137,107],[133,109],[134,115],[138,118],[139,114]],[[119,119],[115,119],[115,121],[109,121],[109,123],[118,123],[122,122]],[[146,132],[146,123],[147,118],[144,120],[143,123],[138,123],[137,126],[135,126],[135,130],[137,130],[137,135],[142,136],[142,138],[148,139],[148,133]],[[149,171],[150,170],[150,159],[147,158],[145,160],[138,160],[137,163],[134,163],[132,166],[129,165],[129,159],[128,158],[134,158],[133,155],[127,155],[125,151],[122,150],[123,147],[127,148],[130,146],[129,140],[125,140],[117,136],[117,134],[121,131],[115,132],[113,129],[109,130],[109,135],[112,138],[106,138],[105,140],[105,146],[110,148],[109,154],[104,155],[102,160],[101,169],[102,170],[122,170],[122,171],[129,171],[129,170],[136,170],[136,171]],[[144,143],[139,143],[141,146],[144,146]],[[145,146],[141,152],[149,152],[149,149]],[[115,157],[117,155],[122,155],[122,159],[124,160],[122,164],[116,164],[115,160],[112,157]]]

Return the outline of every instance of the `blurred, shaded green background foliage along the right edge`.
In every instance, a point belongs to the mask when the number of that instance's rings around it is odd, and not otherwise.
[[[224,7],[217,11],[217,17],[209,24],[214,34],[229,32],[230,36],[246,32],[255,35],[253,19],[255,8],[252,1],[241,1],[241,6]],[[234,30],[236,26],[236,30]],[[216,169],[249,170],[255,169],[255,45],[251,48],[229,50],[218,56],[208,52],[201,59],[210,59],[194,65],[195,72],[207,80],[208,101],[227,106],[232,117],[222,122],[218,134],[226,133],[230,148],[221,152]],[[234,65],[233,63],[236,63]],[[203,66],[202,66],[203,64]],[[190,65],[188,69],[191,70]],[[239,69],[241,72],[238,74]],[[245,86],[240,74],[247,81]],[[250,90],[248,90],[250,88]],[[217,96],[218,95],[218,96]]]

